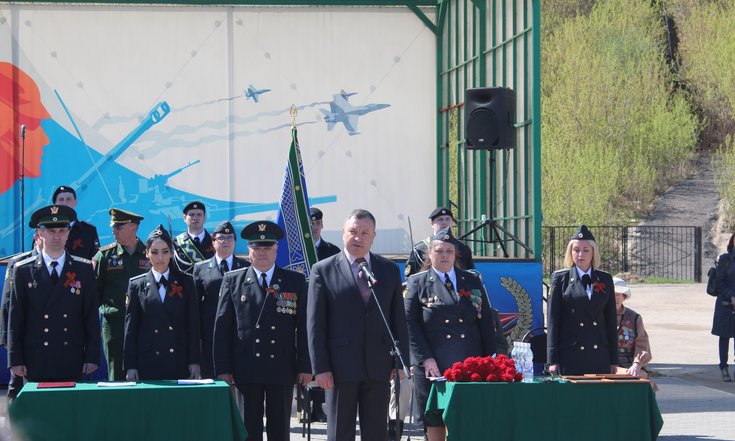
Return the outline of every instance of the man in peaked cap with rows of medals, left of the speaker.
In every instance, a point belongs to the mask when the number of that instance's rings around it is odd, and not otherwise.
[[[214,324],[214,368],[245,402],[249,440],[289,439],[296,382],[311,381],[306,344],[306,280],[276,266],[283,230],[268,221],[242,230],[251,266],[225,274]],[[264,406],[265,401],[265,406]]]

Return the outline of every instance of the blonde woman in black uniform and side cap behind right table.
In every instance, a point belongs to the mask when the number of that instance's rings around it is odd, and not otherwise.
[[[587,226],[567,245],[567,269],[551,275],[548,319],[548,369],[552,374],[615,373],[618,338],[612,276],[597,268],[600,253]]]

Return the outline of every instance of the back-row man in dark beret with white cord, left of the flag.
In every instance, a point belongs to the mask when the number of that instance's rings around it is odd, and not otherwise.
[[[212,236],[204,229],[207,220],[207,208],[200,201],[193,201],[184,207],[184,223],[186,231],[176,236],[174,248],[176,263],[179,268],[191,274],[194,264],[214,256]]]

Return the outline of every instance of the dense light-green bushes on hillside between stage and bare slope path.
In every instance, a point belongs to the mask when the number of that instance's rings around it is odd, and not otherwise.
[[[663,57],[658,6],[609,0],[552,32],[543,24],[544,222],[625,222],[683,177],[697,140]]]

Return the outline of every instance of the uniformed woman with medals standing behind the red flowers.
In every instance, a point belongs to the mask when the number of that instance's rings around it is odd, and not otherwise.
[[[467,357],[495,354],[495,328],[490,302],[474,274],[455,267],[457,247],[446,231],[431,238],[425,271],[408,278],[404,299],[420,409],[426,409],[430,377]],[[424,430],[430,441],[443,440],[440,415],[427,414]]]

